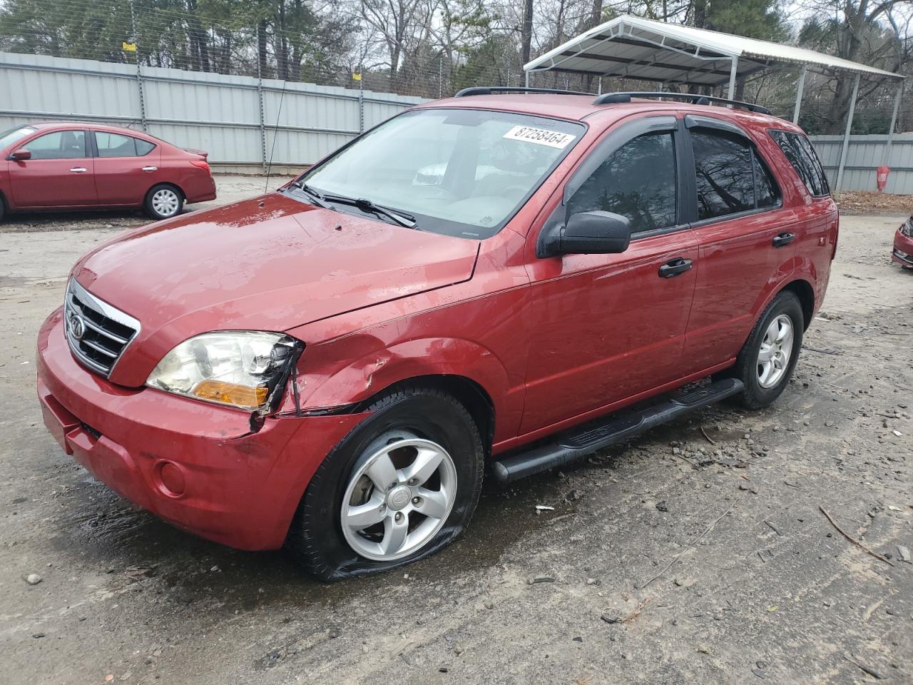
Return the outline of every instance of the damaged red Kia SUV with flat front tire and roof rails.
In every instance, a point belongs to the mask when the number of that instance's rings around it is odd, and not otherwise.
[[[92,250],[39,333],[47,428],[163,519],[330,580],[441,549],[486,472],[770,404],[836,249],[821,165],[756,106],[634,95],[426,103]]]

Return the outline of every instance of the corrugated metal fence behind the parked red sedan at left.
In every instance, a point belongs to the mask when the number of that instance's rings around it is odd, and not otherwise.
[[[243,76],[142,68],[147,130],[214,163],[316,162],[360,130],[421,98]],[[0,53],[0,130],[28,121],[92,120],[142,129],[136,67],[89,59]],[[363,111],[362,111],[363,108]],[[275,145],[273,138],[276,138]]]

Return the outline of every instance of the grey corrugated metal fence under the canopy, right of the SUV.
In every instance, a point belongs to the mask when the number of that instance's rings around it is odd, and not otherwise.
[[[837,183],[837,167],[840,165],[840,151],[844,146],[842,135],[813,135],[814,143],[824,171],[833,187]],[[886,135],[853,135],[846,151],[844,165],[844,190],[877,190],[876,168],[886,163]],[[913,133],[897,133],[888,153],[886,193],[896,195],[913,194]]]

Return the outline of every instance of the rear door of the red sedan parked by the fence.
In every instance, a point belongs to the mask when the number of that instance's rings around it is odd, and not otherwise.
[[[93,131],[92,136],[99,203],[142,205],[159,177],[159,146],[126,133]]]

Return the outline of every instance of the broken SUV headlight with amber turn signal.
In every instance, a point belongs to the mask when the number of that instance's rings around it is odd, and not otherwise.
[[[203,333],[164,355],[146,385],[175,395],[265,410],[285,385],[301,343],[282,333]]]

